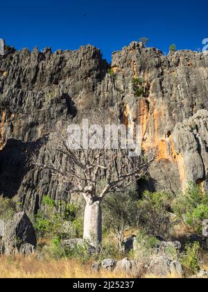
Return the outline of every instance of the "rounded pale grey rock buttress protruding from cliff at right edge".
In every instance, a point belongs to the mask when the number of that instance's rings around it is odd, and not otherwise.
[[[208,111],[200,110],[188,120],[178,123],[173,132],[175,151],[180,157],[183,188],[193,181],[207,190],[208,175]]]

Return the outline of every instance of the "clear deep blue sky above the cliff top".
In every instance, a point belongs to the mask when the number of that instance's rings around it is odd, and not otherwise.
[[[208,38],[207,0],[9,0],[1,1],[0,12],[0,38],[17,49],[93,44],[108,61],[112,51],[142,36],[166,52],[173,43],[202,49]]]

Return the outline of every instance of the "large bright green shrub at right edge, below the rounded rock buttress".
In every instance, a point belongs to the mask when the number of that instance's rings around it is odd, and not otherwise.
[[[189,231],[202,233],[202,221],[208,218],[208,195],[200,186],[189,183],[184,194],[180,194],[173,202],[177,216],[189,228]]]

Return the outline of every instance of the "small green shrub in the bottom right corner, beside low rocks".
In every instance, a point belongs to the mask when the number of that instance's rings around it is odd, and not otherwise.
[[[200,271],[200,244],[187,245],[182,256],[182,266],[187,274],[196,275]]]

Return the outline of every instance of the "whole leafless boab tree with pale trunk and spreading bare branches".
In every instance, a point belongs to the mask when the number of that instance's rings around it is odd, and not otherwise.
[[[90,138],[96,140],[94,131]],[[143,177],[152,159],[130,157],[120,143],[110,149],[99,140],[98,149],[92,149],[80,145],[80,135],[75,136],[73,143],[79,147],[69,146],[67,131],[56,129],[40,149],[44,159],[37,152],[33,155],[33,164],[50,171],[53,179],[69,183],[71,193],[83,195],[86,201],[83,238],[98,245],[102,241],[101,203],[104,197],[109,193],[121,193]]]

